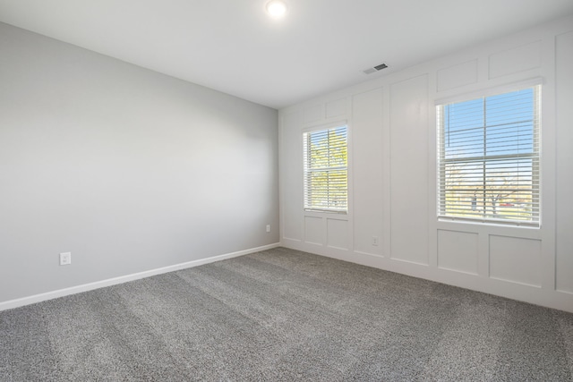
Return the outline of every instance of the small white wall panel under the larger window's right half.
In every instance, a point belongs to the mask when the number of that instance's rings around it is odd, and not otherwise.
[[[541,241],[490,235],[490,277],[541,286]]]

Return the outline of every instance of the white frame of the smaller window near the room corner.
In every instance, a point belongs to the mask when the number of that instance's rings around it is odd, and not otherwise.
[[[309,153],[309,143],[312,137],[312,134],[323,134],[336,131],[338,129],[345,129],[346,139],[344,141],[346,145],[346,166],[341,166],[337,164],[337,166],[320,166],[320,167],[312,167],[311,166],[311,157]],[[307,128],[303,130],[303,176],[304,176],[304,196],[303,196],[303,203],[304,203],[304,210],[305,211],[312,211],[312,212],[328,212],[328,213],[338,213],[338,214],[347,214],[348,213],[348,135],[349,135],[349,128],[346,121],[338,122],[338,123],[329,123],[326,125],[320,126],[313,126],[312,128]],[[315,135],[316,136],[316,135]],[[312,204],[312,189],[310,189],[310,177],[312,174],[331,174],[331,173],[342,173],[346,177],[346,190],[345,191],[345,200],[341,207],[337,207],[336,203],[330,200],[330,187],[327,186],[326,189],[318,190],[318,192],[325,193],[327,198],[326,205],[317,205]]]

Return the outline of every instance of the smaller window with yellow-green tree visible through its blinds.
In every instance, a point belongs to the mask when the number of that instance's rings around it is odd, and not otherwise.
[[[347,128],[304,132],[304,208],[347,212]]]

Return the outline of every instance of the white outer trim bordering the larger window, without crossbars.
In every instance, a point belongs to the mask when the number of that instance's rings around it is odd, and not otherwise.
[[[471,100],[475,100],[478,98],[490,98],[493,96],[498,96],[498,95],[502,95],[502,94],[506,94],[506,93],[510,93],[510,92],[514,92],[514,91],[518,91],[518,90],[524,90],[524,89],[530,89],[530,88],[535,88],[534,89],[534,107],[536,108],[535,110],[535,115],[536,115],[536,119],[535,122],[537,123],[536,126],[536,132],[538,134],[537,137],[537,142],[536,142],[536,152],[535,152],[535,156],[531,156],[532,159],[532,166],[537,166],[538,170],[536,172],[534,172],[532,174],[532,183],[535,184],[537,183],[537,193],[536,195],[534,195],[534,197],[536,197],[536,201],[533,203],[533,205],[536,208],[536,213],[532,214],[534,216],[536,216],[536,220],[531,221],[531,220],[526,220],[526,221],[519,221],[519,220],[507,220],[507,219],[495,219],[495,218],[488,218],[488,217],[480,217],[480,216],[472,216],[472,217],[466,217],[466,216],[444,216],[441,215],[441,212],[443,210],[442,208],[442,195],[440,193],[441,191],[441,183],[443,182],[442,179],[442,166],[444,166],[442,164],[441,161],[441,155],[443,154],[441,152],[440,149],[440,145],[442,144],[441,142],[441,138],[442,138],[442,129],[443,129],[443,123],[441,123],[440,125],[440,121],[443,121],[443,116],[440,117],[440,110],[441,112],[443,112],[444,110],[444,106],[447,106],[449,104],[456,104],[456,103],[463,103],[466,101],[471,101]],[[466,224],[480,224],[480,225],[500,225],[500,226],[517,226],[517,227],[528,227],[528,228],[541,228],[542,226],[542,199],[543,199],[543,195],[542,195],[542,190],[543,190],[543,183],[542,183],[542,162],[543,162],[543,158],[542,158],[542,114],[543,114],[543,96],[542,96],[542,91],[543,91],[543,78],[539,77],[539,78],[535,78],[535,79],[530,79],[530,80],[526,80],[526,81],[519,81],[519,82],[514,82],[511,84],[507,84],[507,85],[502,85],[499,87],[495,87],[495,88],[489,88],[489,89],[483,89],[480,91],[475,91],[475,92],[471,92],[471,93],[465,93],[463,95],[458,95],[458,96],[452,96],[449,98],[440,98],[440,99],[436,99],[434,101],[434,105],[435,105],[435,110],[436,110],[436,120],[435,120],[435,126],[436,126],[436,216],[438,221],[443,221],[443,222],[458,222],[458,223],[466,223]],[[535,131],[534,131],[535,133]],[[509,156],[510,158],[517,158],[520,157],[520,155],[513,155],[513,156]],[[527,157],[527,156],[524,156]],[[451,162],[451,161],[447,161],[446,163]],[[463,162],[463,160],[460,160],[460,162]],[[535,164],[536,162],[536,164]]]

